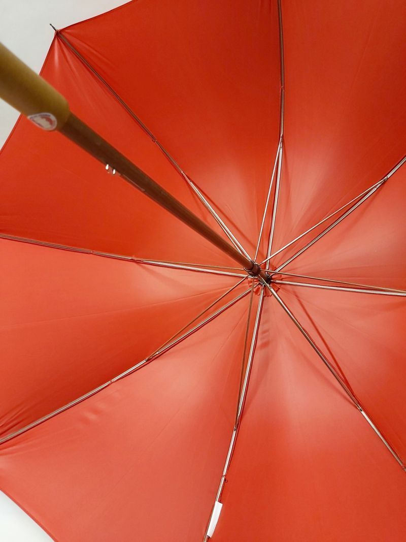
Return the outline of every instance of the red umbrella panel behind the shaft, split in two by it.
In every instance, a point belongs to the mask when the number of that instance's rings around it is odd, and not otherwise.
[[[218,231],[184,179],[77,57],[55,40],[42,75],[71,110]],[[1,233],[155,260],[234,261],[59,133],[21,118],[0,155]]]

